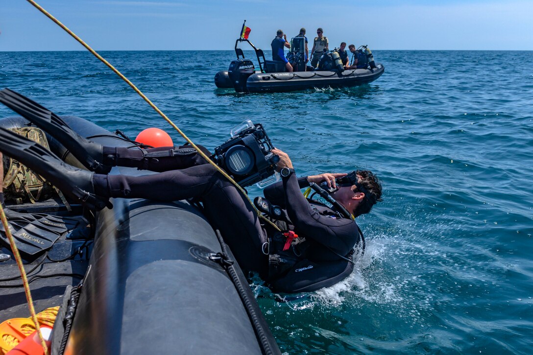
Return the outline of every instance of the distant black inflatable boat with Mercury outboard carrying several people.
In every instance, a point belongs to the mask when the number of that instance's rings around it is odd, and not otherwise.
[[[256,72],[254,63],[244,57],[243,50],[238,47],[240,42],[247,42],[254,49],[259,72]],[[331,70],[285,72],[284,62],[266,60],[261,49],[257,49],[248,39],[242,38],[237,39],[235,43],[235,53],[237,59],[231,62],[229,69],[216,73],[215,85],[219,88],[234,88],[236,92],[288,92],[312,88],[352,87],[373,82],[385,71],[382,64],[373,64],[360,69],[343,70],[340,67]],[[292,57],[297,57],[297,54]]]

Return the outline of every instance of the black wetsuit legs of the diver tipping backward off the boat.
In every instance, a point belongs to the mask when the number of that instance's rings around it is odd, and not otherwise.
[[[169,149],[171,147],[141,151],[104,147],[104,164],[138,167],[140,170],[160,173],[142,176],[94,174],[96,195],[157,201],[200,198],[209,222],[220,229],[240,267],[263,272],[268,266],[268,256],[261,252],[266,232],[248,200],[195,151],[189,155],[177,154],[156,159],[143,157],[146,153]]]

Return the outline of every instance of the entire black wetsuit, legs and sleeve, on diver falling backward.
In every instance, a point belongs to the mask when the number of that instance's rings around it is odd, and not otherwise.
[[[143,152],[104,147],[104,156],[108,159],[104,163],[108,165],[162,172],[143,176],[95,174],[96,195],[158,201],[200,198],[206,216],[220,229],[240,267],[265,273],[268,256],[263,254],[262,246],[267,240],[266,231],[248,200],[195,152],[157,159],[143,157],[147,152],[168,150],[169,147],[153,148]],[[294,231],[306,238],[302,243],[306,244],[305,253],[300,257],[312,261],[338,260],[339,255],[348,254],[359,242],[357,225],[350,219],[338,219],[326,206],[309,204],[300,191],[306,186],[309,186],[306,178],[297,179],[292,174],[267,187],[264,193],[273,204],[286,208]]]

